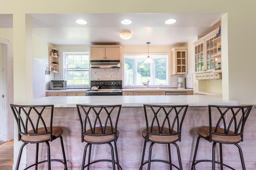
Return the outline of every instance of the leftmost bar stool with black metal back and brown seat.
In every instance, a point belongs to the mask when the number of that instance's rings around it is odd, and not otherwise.
[[[60,162],[64,165],[64,170],[67,170],[67,162],[64,151],[64,145],[62,140],[63,129],[61,127],[53,127],[53,105],[40,105],[40,106],[22,106],[10,104],[14,118],[18,125],[18,141],[22,141],[24,144],[20,147],[18,160],[16,164],[16,170],[20,165],[20,158],[23,148],[28,143],[36,144],[36,160],[35,163],[28,166],[24,170],[35,166],[35,169],[41,169],[39,164],[48,162],[48,170],[51,169],[51,161]],[[62,147],[63,160],[51,159],[49,142],[60,138]],[[38,149],[40,143],[46,143],[47,146],[47,160],[40,160],[38,162]],[[56,165],[60,166],[60,165]]]

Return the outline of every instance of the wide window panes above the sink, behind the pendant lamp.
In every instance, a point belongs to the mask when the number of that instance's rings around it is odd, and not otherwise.
[[[144,63],[147,55],[124,54],[124,85],[141,86],[141,82],[150,81],[150,85],[168,85],[168,54],[153,54],[154,63]]]

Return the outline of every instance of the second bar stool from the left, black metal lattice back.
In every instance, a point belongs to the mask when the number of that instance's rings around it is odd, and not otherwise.
[[[113,170],[122,170],[122,167],[118,161],[118,152],[116,141],[119,137],[119,131],[117,130],[117,123],[122,105],[111,105],[111,106],[90,106],[77,104],[78,116],[81,123],[81,137],[82,142],[86,142],[84,147],[84,156],[82,160],[82,170],[87,167],[89,170],[90,165],[97,162],[112,162]],[[114,149],[112,142],[114,142]],[[100,158],[91,162],[91,150],[92,144],[108,144],[111,149],[112,159],[105,159],[106,155],[102,155],[102,150],[98,150]],[[85,165],[86,150],[89,147],[88,164]],[[116,161],[114,158],[114,150],[116,154]],[[101,159],[102,158],[102,159]],[[103,167],[101,167],[103,168]]]

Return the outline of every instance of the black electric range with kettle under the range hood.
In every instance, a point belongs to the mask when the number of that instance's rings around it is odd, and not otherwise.
[[[90,84],[98,90],[86,90],[86,96],[122,96],[122,80],[91,81]]]

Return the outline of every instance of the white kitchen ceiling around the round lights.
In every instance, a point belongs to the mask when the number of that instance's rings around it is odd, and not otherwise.
[[[182,46],[197,36],[206,35],[224,13],[115,13],[115,14],[28,14],[32,18],[33,35],[55,45],[176,45]],[[166,25],[164,21],[177,22]],[[76,19],[85,19],[79,25]],[[130,19],[132,24],[122,25]],[[0,28],[12,27],[12,14],[0,14]],[[123,30],[132,32],[121,39]]]

